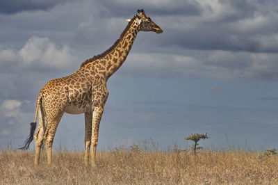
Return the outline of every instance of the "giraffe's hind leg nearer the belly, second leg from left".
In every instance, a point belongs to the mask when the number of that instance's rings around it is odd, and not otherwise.
[[[63,113],[59,113],[54,117],[54,119],[49,118],[49,120],[47,120],[47,131],[46,136],[44,136],[45,145],[47,147],[47,164],[52,163],[52,144],[56,133],[56,129],[62,116]]]

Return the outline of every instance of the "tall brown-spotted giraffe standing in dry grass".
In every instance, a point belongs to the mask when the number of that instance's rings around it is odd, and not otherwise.
[[[85,165],[89,163],[92,144],[91,166],[96,167],[99,124],[108,98],[106,82],[126,60],[139,31],[163,32],[150,17],[145,15],[144,10],[138,10],[138,15],[127,21],[129,23],[126,29],[109,49],[83,62],[79,70],[73,74],[48,81],[40,90],[36,102],[35,120],[31,122],[30,134],[24,142],[24,147],[20,148],[28,149],[35,138],[35,165],[40,162],[40,148],[43,142],[47,150],[47,163],[52,163],[52,144],[63,113],[84,113],[84,163]],[[35,133],[37,117],[39,125]]]

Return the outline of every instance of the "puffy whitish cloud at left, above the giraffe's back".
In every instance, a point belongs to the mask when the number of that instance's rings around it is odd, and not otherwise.
[[[65,70],[76,64],[78,59],[70,47],[62,47],[51,42],[49,38],[33,36],[22,49],[0,50],[1,65],[5,70]]]

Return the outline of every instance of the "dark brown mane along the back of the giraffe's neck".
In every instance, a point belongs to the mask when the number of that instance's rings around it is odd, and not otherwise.
[[[108,48],[106,51],[104,51],[103,53],[98,54],[98,55],[95,55],[95,56],[93,56],[92,58],[87,59],[85,62],[83,62],[83,63],[81,64],[80,67],[83,67],[84,65],[86,65],[86,64],[88,64],[88,63],[92,63],[92,62],[94,62],[94,61],[97,61],[97,59],[103,58],[103,57],[106,56],[108,53],[110,53],[110,52],[119,44],[120,40],[122,40],[122,38],[124,37],[124,35],[126,34],[126,32],[129,31],[129,29],[130,29],[130,27],[131,27],[131,24],[132,24],[133,21],[136,19],[136,17],[138,17],[138,16],[136,15],[136,16],[134,16],[134,17],[130,20],[129,24],[127,24],[127,26],[126,26],[126,28],[124,29],[124,31],[122,31],[122,34],[120,35],[120,38],[118,38],[118,39],[116,40],[116,42],[114,42],[114,44],[113,44],[111,47],[109,47],[109,48]]]

